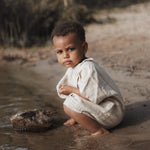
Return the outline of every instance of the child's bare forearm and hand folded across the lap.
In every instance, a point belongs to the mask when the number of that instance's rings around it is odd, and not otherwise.
[[[80,91],[79,91],[79,88],[75,88],[75,87],[72,87],[72,86],[68,86],[68,85],[60,85],[59,86],[59,93],[60,94],[64,94],[64,95],[69,95],[71,93],[75,93],[79,96],[81,96],[82,98],[86,99],[89,101],[88,98],[84,97],[83,95],[81,95]]]

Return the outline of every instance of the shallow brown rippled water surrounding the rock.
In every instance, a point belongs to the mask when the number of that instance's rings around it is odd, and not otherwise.
[[[12,77],[9,67],[0,66],[0,150],[71,149],[73,134],[71,129],[62,125],[64,117],[59,113],[60,106],[50,102],[52,95],[42,92],[39,86],[35,87]],[[40,133],[14,131],[9,118],[17,112],[35,108],[58,111],[55,127]]]

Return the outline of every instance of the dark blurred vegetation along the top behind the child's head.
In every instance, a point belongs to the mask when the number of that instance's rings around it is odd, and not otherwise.
[[[98,11],[145,1],[148,0],[0,0],[0,46],[45,45],[57,23],[103,23],[93,17]]]

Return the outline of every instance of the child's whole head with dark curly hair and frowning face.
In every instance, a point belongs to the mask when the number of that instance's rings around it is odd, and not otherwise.
[[[65,22],[58,25],[52,32],[52,40],[60,64],[75,67],[85,58],[88,45],[80,24]]]

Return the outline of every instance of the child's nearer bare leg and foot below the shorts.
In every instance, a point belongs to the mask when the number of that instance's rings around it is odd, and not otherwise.
[[[109,133],[109,131],[104,129],[97,121],[93,120],[92,118],[84,114],[77,113],[65,105],[64,111],[68,116],[73,118],[75,121],[81,124],[81,126],[90,131],[92,133],[91,134],[92,137],[102,136],[104,134]]]

